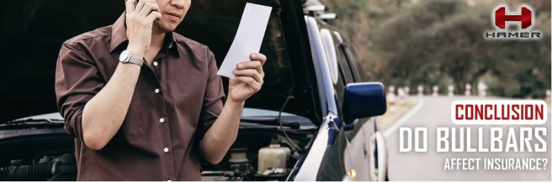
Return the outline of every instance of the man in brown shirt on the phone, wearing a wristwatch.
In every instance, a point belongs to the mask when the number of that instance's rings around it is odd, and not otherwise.
[[[235,141],[266,57],[239,63],[223,107],[213,53],[172,32],[191,1],[135,1],[59,52],[57,104],[76,138],[77,180],[199,181],[199,157],[219,163]]]

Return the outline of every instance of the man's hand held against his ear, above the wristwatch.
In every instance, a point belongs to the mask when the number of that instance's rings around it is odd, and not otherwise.
[[[150,49],[153,21],[161,19],[159,5],[155,0],[126,1],[126,36],[128,51],[135,56],[144,57]]]

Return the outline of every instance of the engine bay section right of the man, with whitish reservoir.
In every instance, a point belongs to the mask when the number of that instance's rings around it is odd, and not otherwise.
[[[203,181],[285,181],[302,160],[312,138],[313,132],[305,130],[286,130],[285,134],[281,130],[240,130],[221,163],[201,163],[201,178]]]

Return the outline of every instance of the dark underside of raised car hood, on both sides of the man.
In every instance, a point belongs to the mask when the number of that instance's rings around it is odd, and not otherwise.
[[[193,1],[175,32],[208,45],[220,66],[233,42],[246,1]],[[277,1],[261,53],[268,57],[264,86],[246,106],[277,111],[293,89],[293,70],[279,20]],[[0,8],[0,122],[57,112],[55,64],[61,43],[97,27],[110,25],[122,14],[123,1],[30,0],[6,1]],[[228,79],[223,79],[227,92]],[[266,102],[273,101],[273,102]]]

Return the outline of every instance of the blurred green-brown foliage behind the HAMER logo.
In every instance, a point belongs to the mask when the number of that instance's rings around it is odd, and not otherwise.
[[[474,3],[475,2],[475,3]],[[551,87],[550,1],[530,1],[538,41],[491,41],[491,13],[504,1],[322,1],[351,37],[368,80],[411,88],[449,84],[458,92],[480,80],[489,93],[544,98]],[[516,0],[506,1],[519,7]]]

